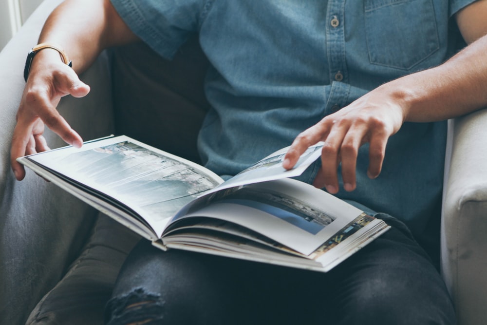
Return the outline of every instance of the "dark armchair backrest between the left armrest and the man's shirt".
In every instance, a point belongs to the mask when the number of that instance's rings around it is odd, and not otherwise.
[[[209,65],[196,37],[172,61],[143,43],[112,53],[115,130],[199,162],[196,138],[208,110],[203,80]]]

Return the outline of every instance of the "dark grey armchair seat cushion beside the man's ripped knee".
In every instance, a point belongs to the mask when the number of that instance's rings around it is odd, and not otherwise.
[[[102,325],[118,270],[139,239],[100,213],[83,252],[37,304],[26,324]]]

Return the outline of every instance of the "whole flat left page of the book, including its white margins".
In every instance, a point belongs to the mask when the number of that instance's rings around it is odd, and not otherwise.
[[[27,158],[103,194],[115,205],[126,205],[158,236],[179,209],[223,182],[195,163],[126,136]]]

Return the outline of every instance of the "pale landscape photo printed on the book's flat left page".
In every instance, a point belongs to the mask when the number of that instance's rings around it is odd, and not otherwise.
[[[171,157],[130,141],[74,152],[59,165],[94,188],[144,210],[151,219],[165,219],[202,192],[221,182]],[[157,222],[156,220],[151,220]]]

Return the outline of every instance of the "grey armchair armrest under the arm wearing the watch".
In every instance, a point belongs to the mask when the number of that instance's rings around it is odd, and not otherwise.
[[[10,170],[10,139],[25,82],[26,55],[60,0],[45,0],[0,53],[0,319],[23,324],[39,299],[61,278],[90,232],[96,212],[68,193],[27,172],[17,182]],[[74,62],[74,64],[76,64]],[[58,107],[84,138],[113,133],[108,55],[81,76],[92,87],[85,98],[65,97]],[[51,148],[64,145],[46,130]]]

